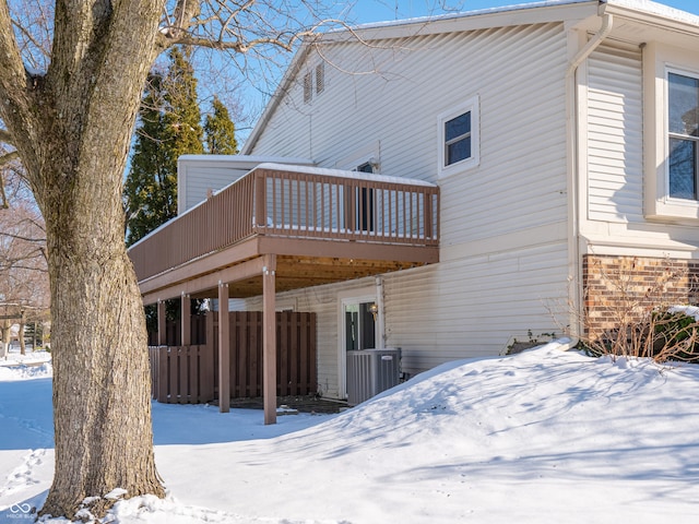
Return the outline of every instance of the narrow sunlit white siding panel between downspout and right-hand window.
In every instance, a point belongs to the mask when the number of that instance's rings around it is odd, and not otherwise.
[[[643,221],[641,50],[605,43],[588,61],[589,218]]]

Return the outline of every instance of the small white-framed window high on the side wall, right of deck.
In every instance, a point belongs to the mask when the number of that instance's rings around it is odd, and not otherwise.
[[[478,98],[439,116],[439,172],[448,176],[478,165]]]

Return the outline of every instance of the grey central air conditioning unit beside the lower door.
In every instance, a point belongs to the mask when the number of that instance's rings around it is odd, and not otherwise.
[[[356,406],[400,381],[400,347],[347,352],[347,404]]]

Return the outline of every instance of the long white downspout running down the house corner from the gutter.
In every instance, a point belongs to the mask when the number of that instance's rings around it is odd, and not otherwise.
[[[567,105],[567,127],[568,127],[568,162],[569,162],[569,179],[568,179],[568,206],[569,214],[569,234],[568,234],[568,252],[569,266],[572,274],[572,297],[570,312],[570,329],[572,341],[570,347],[577,345],[579,335],[582,333],[583,325],[581,323],[581,313],[583,311],[582,300],[582,261],[580,259],[580,136],[579,136],[579,99],[578,84],[576,72],[580,64],[602,44],[609,35],[614,24],[612,14],[604,13],[604,5],[600,8],[602,16],[602,25],[595,35],[590,38],[585,46],[580,49],[570,60],[566,70],[566,105]]]

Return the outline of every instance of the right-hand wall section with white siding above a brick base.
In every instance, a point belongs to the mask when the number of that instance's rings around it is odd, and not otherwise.
[[[584,330],[597,338],[625,314],[641,320],[654,307],[696,305],[697,224],[647,209],[649,170],[643,153],[648,117],[645,45],[609,39],[592,53],[583,81],[587,144],[583,293]],[[659,98],[657,104],[665,104]],[[649,129],[645,129],[649,132]],[[656,131],[653,131],[655,136]],[[661,139],[665,140],[665,139]]]

